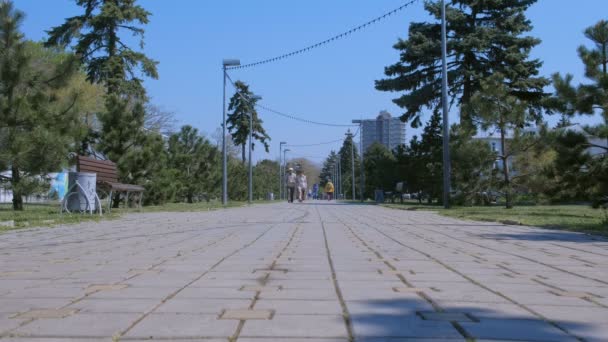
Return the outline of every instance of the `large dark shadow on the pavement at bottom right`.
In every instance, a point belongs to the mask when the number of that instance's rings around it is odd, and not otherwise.
[[[600,341],[598,323],[545,321],[507,303],[451,302],[439,313],[423,299],[347,302],[355,341],[409,338],[501,341]],[[352,308],[352,309],[351,309]],[[493,309],[495,308],[495,309]],[[596,329],[594,329],[596,328]],[[408,341],[409,341],[408,339]],[[384,340],[382,340],[384,341]]]

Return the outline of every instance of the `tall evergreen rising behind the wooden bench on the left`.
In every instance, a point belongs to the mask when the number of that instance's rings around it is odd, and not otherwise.
[[[99,114],[99,148],[119,165],[120,178],[126,180],[130,172],[137,170],[120,167],[125,162],[123,158],[145,141],[142,127],[147,99],[139,72],[153,79],[158,78],[158,73],[157,62],[130,48],[122,35],[139,37],[143,47],[141,26],[148,23],[150,13],[136,0],[75,1],[84,13],[51,29],[46,44],[64,46],[74,42],[73,50],[86,66],[89,81],[106,86],[106,110]]]

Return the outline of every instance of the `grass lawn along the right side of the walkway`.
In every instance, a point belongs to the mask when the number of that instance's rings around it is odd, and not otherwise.
[[[500,206],[443,209],[440,206],[410,202],[383,204],[383,206],[406,210],[432,210],[441,215],[466,220],[521,224],[608,236],[606,212],[586,205],[515,206],[513,209],[505,209]]]

